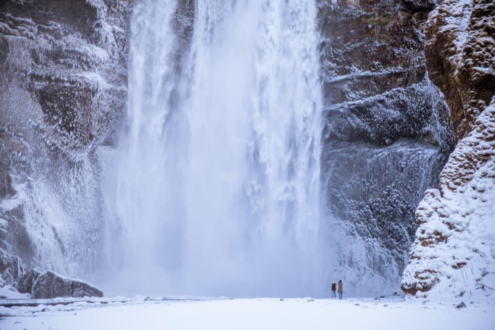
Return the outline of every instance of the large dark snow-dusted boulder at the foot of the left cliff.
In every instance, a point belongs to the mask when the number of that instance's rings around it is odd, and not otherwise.
[[[103,292],[89,283],[47,271],[38,276],[31,289],[33,298],[102,297]]]

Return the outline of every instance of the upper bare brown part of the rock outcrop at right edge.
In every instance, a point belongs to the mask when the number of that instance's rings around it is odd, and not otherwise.
[[[495,2],[445,0],[425,25],[426,66],[446,96],[456,141],[495,94]]]

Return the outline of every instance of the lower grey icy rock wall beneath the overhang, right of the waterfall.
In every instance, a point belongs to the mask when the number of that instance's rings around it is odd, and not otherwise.
[[[444,163],[439,147],[414,139],[384,147],[336,141],[324,154],[336,273],[359,294],[396,289],[416,230],[413,212],[423,192],[437,186]]]

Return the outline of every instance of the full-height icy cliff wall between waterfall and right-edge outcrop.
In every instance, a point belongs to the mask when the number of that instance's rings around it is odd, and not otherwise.
[[[359,294],[396,290],[414,210],[453,145],[421,31],[435,1],[319,1],[322,173],[340,267]],[[407,138],[407,139],[403,139]],[[338,234],[340,233],[340,234]]]

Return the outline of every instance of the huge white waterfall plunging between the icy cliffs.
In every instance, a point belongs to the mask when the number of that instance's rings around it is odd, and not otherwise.
[[[134,4],[108,267],[155,294],[323,295],[316,4],[198,0],[185,47],[181,3]]]

